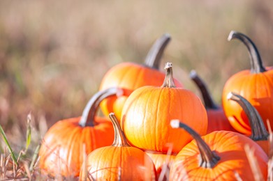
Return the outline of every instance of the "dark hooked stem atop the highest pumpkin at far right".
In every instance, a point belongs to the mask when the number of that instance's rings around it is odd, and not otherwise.
[[[230,34],[228,36],[228,40],[233,40],[237,38],[241,42],[246,45],[246,48],[249,50],[249,56],[250,56],[250,64],[251,64],[251,73],[252,74],[258,74],[261,72],[265,72],[265,68],[263,67],[262,59],[260,58],[260,54],[258,52],[258,49],[254,42],[244,35],[243,33],[239,33],[237,31],[230,31]]]

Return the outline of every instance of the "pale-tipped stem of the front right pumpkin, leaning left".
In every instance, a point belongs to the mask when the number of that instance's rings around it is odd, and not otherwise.
[[[203,168],[214,168],[214,166],[216,166],[221,158],[216,155],[216,152],[210,150],[209,145],[202,140],[201,136],[197,132],[191,129],[188,125],[181,123],[179,120],[171,120],[170,125],[172,128],[183,128],[193,136],[193,139],[195,139],[200,151],[199,166]]]

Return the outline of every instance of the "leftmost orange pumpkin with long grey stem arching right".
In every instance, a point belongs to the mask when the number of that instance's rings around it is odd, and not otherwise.
[[[96,116],[99,103],[105,97],[121,94],[119,88],[96,93],[84,108],[81,117],[59,120],[45,134],[40,147],[40,169],[50,175],[75,176],[82,166],[83,147],[91,150],[111,145],[114,129],[108,118]]]

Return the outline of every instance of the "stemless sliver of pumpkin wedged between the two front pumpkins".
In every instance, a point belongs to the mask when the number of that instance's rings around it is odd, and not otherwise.
[[[158,180],[168,180],[170,174],[170,166],[172,166],[172,161],[175,159],[175,155],[171,155],[170,153],[164,154],[160,152],[146,153],[154,162]]]

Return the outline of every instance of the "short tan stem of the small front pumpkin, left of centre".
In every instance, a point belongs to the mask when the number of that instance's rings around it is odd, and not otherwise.
[[[115,113],[110,113],[109,117],[110,117],[110,120],[112,121],[114,130],[115,130],[115,139],[112,145],[113,146],[130,146],[126,140],[124,132],[121,130],[119,121],[117,120]]]

